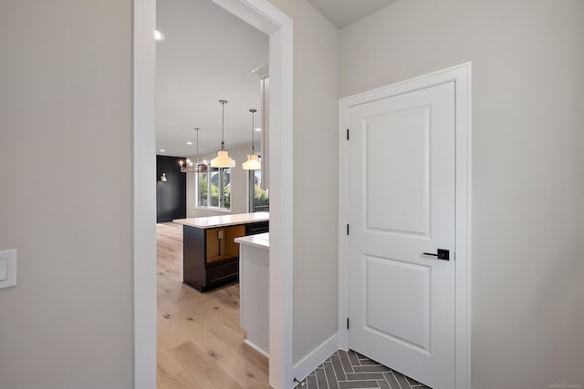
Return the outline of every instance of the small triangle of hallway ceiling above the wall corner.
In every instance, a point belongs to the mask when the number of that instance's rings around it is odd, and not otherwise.
[[[369,16],[396,3],[398,0],[308,0],[322,15],[340,29],[352,25],[365,16]]]

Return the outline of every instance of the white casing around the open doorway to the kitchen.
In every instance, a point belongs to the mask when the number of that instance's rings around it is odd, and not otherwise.
[[[267,0],[213,0],[269,36],[269,384],[292,387],[292,20]],[[134,387],[156,388],[156,0],[133,2]]]

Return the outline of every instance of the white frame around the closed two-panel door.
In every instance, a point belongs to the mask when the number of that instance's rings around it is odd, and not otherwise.
[[[339,100],[339,348],[349,349],[349,108],[454,81],[454,384],[471,387],[471,63]]]

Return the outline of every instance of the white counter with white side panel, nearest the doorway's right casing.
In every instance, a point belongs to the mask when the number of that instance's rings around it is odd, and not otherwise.
[[[235,239],[239,243],[240,325],[245,343],[269,357],[269,233]]]

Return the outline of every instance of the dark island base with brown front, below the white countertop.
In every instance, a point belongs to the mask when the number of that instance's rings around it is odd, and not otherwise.
[[[267,232],[269,221],[201,229],[183,226],[183,282],[200,292],[239,280],[235,238]]]

